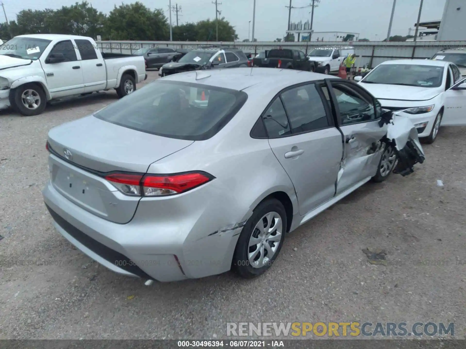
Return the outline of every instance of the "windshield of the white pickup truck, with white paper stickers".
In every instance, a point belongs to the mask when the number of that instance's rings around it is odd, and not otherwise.
[[[29,37],[15,37],[0,46],[0,54],[22,58],[25,60],[37,60],[51,40]]]

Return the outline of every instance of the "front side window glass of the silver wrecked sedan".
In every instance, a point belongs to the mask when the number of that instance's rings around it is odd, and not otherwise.
[[[374,105],[349,84],[332,84],[340,109],[341,126],[376,120]]]

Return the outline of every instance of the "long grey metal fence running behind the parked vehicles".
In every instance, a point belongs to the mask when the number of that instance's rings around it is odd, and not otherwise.
[[[201,42],[201,41],[97,41],[102,52],[120,52],[134,54],[144,47],[171,47],[196,49],[206,45],[231,46],[242,49],[245,53],[259,53],[273,48],[294,48],[308,54],[314,48],[354,47],[356,67],[368,65],[376,67],[386,60],[403,58],[429,59],[436,52],[445,48],[466,47],[466,41],[417,41],[417,42],[383,42],[383,41],[313,41],[313,42]]]

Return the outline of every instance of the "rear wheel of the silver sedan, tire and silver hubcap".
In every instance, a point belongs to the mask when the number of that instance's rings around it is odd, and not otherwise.
[[[265,273],[280,253],[287,215],[277,199],[262,201],[241,231],[233,255],[233,270],[245,279]]]

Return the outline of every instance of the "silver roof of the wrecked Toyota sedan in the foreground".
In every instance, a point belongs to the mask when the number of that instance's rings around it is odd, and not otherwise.
[[[198,79],[196,80],[196,76]],[[310,73],[293,69],[274,68],[226,68],[209,69],[168,75],[165,81],[183,81],[216,87],[225,87],[237,91],[253,90],[275,91],[307,81],[339,79],[335,76]]]

